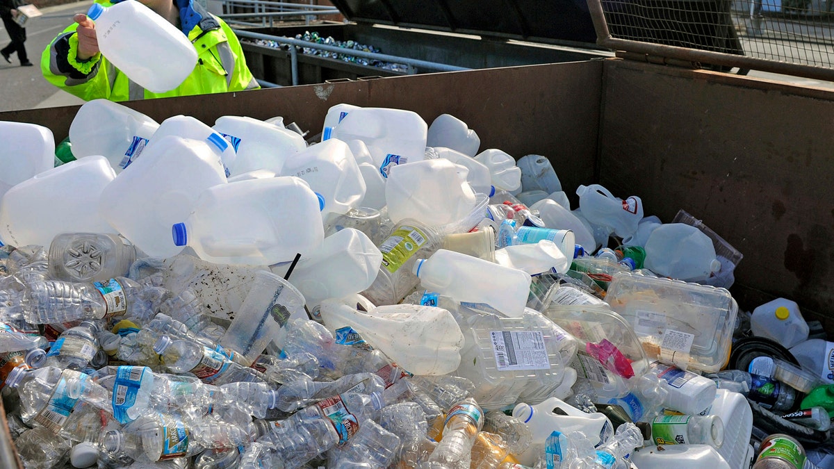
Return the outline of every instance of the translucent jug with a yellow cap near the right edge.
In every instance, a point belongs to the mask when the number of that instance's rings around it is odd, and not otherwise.
[[[750,325],[753,335],[776,340],[786,348],[808,340],[808,323],[802,317],[799,305],[786,298],[756,306]]]

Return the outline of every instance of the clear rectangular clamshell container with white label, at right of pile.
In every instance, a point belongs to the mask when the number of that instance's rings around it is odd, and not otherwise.
[[[605,301],[631,324],[650,359],[715,372],[730,357],[738,305],[723,288],[620,272]]]

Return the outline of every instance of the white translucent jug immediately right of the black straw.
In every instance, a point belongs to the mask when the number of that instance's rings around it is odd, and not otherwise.
[[[368,235],[345,228],[324,238],[319,250],[300,260],[289,281],[312,309],[322,300],[365,290],[376,280],[381,263],[382,253]]]

